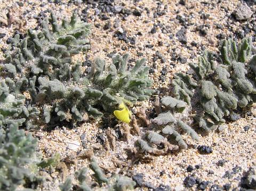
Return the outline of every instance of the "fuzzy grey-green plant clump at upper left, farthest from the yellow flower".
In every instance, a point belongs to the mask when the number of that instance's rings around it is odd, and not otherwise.
[[[4,68],[13,76],[45,74],[50,79],[68,80],[76,70],[71,56],[90,48],[89,34],[90,24],[80,21],[75,13],[61,24],[51,13],[50,23],[44,19],[41,30],[28,29],[26,38],[12,38]]]

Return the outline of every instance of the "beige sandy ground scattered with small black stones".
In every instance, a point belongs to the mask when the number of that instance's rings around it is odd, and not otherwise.
[[[16,1],[0,1],[0,9],[7,10],[8,7],[14,5]],[[20,1],[18,3],[17,16],[20,16],[22,20],[29,21],[24,26],[25,30],[28,27],[35,28],[38,22],[38,14],[45,11],[46,15],[49,15],[49,10],[53,10],[59,18],[63,16],[69,17],[73,11],[77,11],[84,19],[87,19],[92,24],[92,35],[90,36],[91,50],[86,55],[81,55],[80,59],[93,60],[96,56],[101,56],[109,63],[111,61],[108,55],[116,51],[123,54],[129,52],[131,59],[139,59],[145,57],[147,64],[150,66],[151,74],[150,78],[154,79],[153,88],[159,90],[159,95],[166,95],[168,91],[170,80],[173,73],[176,71],[188,70],[188,64],[190,62],[196,62],[197,56],[202,54],[204,49],[210,49],[211,51],[218,50],[218,38],[219,34],[223,37],[234,37],[237,31],[245,31],[245,35],[254,35],[253,27],[255,27],[255,14],[247,21],[238,22],[232,16],[232,13],[236,9],[237,5],[241,4],[240,1],[200,1],[200,0],[188,0],[185,1],[185,5],[179,3],[179,1],[116,1],[113,5],[125,7],[133,12],[135,9],[139,10],[141,16],[136,16],[131,13],[128,16],[123,16],[119,13],[102,13],[101,8],[96,4],[92,7],[83,3],[75,3],[75,1],[55,1],[62,3],[54,3],[54,1]],[[90,2],[90,1],[89,1]],[[107,1],[106,1],[107,2]],[[110,1],[109,1],[110,2]],[[23,6],[21,6],[21,3]],[[87,9],[87,18],[83,10]],[[98,9],[98,10],[97,10]],[[255,13],[256,5],[251,6],[251,10]],[[100,11],[100,14],[95,14]],[[164,11],[165,14],[154,16],[155,12]],[[103,20],[102,14],[105,14],[108,19]],[[156,14],[155,14],[156,15]],[[185,18],[184,22],[177,19],[177,15]],[[17,17],[18,18],[18,17]],[[116,19],[119,20],[119,24],[116,23]],[[111,23],[111,26],[106,29],[105,24]],[[0,39],[0,48],[6,48],[6,40],[12,37],[15,30],[19,28],[19,22],[14,22],[12,26],[0,26],[0,33],[5,34]],[[150,32],[154,24],[156,30]],[[202,35],[197,30],[198,26],[204,25],[206,28],[206,34]],[[247,26],[247,27],[246,27]],[[181,28],[186,28],[187,44],[182,44],[176,36],[177,32]],[[128,40],[126,43],[123,40],[118,40],[115,37],[116,31],[126,31],[127,37],[135,38],[135,44],[133,40]],[[21,31],[22,33],[22,31]],[[238,37],[239,38],[239,37]],[[191,45],[195,41],[196,45]],[[193,44],[193,43],[192,43]],[[150,46],[146,45],[153,45]],[[163,57],[164,62],[161,59],[154,60],[156,51],[159,51]],[[115,53],[115,52],[114,52]],[[3,59],[3,52],[0,52],[0,60]],[[187,59],[185,63],[183,60]],[[130,60],[134,63],[134,60]],[[161,73],[162,69],[167,70],[166,74]],[[135,105],[132,111],[144,106],[145,109],[152,108],[154,99],[141,102]],[[98,120],[90,120],[87,123],[81,125],[81,127],[75,129],[69,129],[68,127],[57,127],[51,132],[37,131],[34,135],[39,139],[38,151],[41,151],[44,156],[52,156],[54,153],[59,152],[62,158],[68,157],[70,159],[76,159],[79,153],[89,151],[94,148],[94,155],[97,156],[100,167],[102,167],[107,176],[113,176],[116,172],[121,175],[127,175],[133,177],[138,173],[143,173],[144,179],[152,185],[151,188],[136,188],[136,190],[164,190],[169,187],[170,190],[196,190],[196,185],[193,188],[186,188],[183,185],[183,180],[193,175],[196,178],[200,178],[205,181],[210,181],[206,190],[218,190],[211,188],[212,185],[218,185],[220,190],[223,190],[223,185],[231,184],[230,190],[239,190],[239,182],[243,173],[256,163],[256,107],[253,107],[249,114],[245,113],[244,118],[241,118],[235,122],[227,124],[227,128],[222,132],[216,132],[208,136],[200,136],[198,142],[186,137],[186,141],[189,144],[187,150],[181,151],[175,155],[164,155],[154,157],[154,161],[150,163],[135,163],[131,164],[131,161],[127,160],[127,155],[124,148],[127,146],[132,147],[134,141],[139,138],[137,135],[127,141],[116,140],[115,148],[111,149],[109,154],[106,154],[105,148],[100,144],[99,136],[105,136],[106,129],[101,127],[101,123]],[[123,124],[119,124],[122,129]],[[249,126],[249,130],[245,130],[246,126]],[[141,132],[146,130],[146,127],[140,127]],[[68,143],[77,140],[81,146],[76,150],[69,150]],[[213,153],[208,155],[202,155],[197,152],[196,147],[198,145],[211,146]],[[118,159],[123,161],[125,165],[121,167],[113,160]],[[226,160],[223,166],[218,165],[218,161]],[[77,165],[70,164],[68,174],[72,175],[75,169],[79,169],[88,164],[87,160],[76,159]],[[192,172],[187,172],[188,165],[195,167],[199,165],[199,168]],[[127,166],[127,167],[125,167]],[[198,167],[198,166],[197,166]],[[226,176],[225,176],[226,174]],[[228,175],[227,175],[228,174]],[[52,175],[52,181],[46,181],[42,190],[58,190],[58,184],[62,182],[60,177],[56,176],[56,173]],[[152,189],[153,188],[153,189]]]

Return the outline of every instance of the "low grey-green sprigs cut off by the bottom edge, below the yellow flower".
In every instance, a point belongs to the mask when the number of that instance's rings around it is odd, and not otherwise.
[[[99,168],[99,165],[95,158],[92,158],[90,163],[90,168],[94,172],[93,177],[98,185],[93,184],[93,182],[88,180],[88,171],[86,167],[75,172],[75,177],[78,180],[78,184],[74,185],[71,177],[67,178],[59,187],[61,191],[70,191],[73,187],[76,190],[81,191],[91,191],[91,190],[117,190],[117,191],[126,191],[133,190],[136,182],[134,182],[129,177],[112,177],[106,178],[102,170]],[[104,183],[104,185],[102,184]]]

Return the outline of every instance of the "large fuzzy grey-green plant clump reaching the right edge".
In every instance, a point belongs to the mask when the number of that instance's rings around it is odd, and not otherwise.
[[[237,107],[256,101],[252,39],[223,40],[219,51],[218,59],[206,51],[197,64],[189,64],[193,75],[176,73],[172,81],[174,97],[191,105],[195,123],[208,132],[224,123]]]

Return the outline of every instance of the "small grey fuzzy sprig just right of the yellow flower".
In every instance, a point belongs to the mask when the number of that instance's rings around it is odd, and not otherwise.
[[[189,108],[186,102],[170,96],[163,97],[161,102],[156,98],[156,107],[159,112],[157,117],[152,120],[154,131],[147,131],[142,139],[135,142],[137,153],[166,154],[187,148],[181,133],[186,132],[191,138],[198,140],[198,135],[188,124]],[[177,142],[177,145],[174,145]]]

